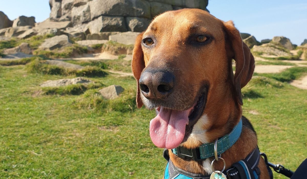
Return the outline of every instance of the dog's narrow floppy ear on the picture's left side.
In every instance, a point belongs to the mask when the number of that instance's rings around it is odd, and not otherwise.
[[[141,108],[143,106],[143,102],[141,100],[141,91],[139,87],[139,80],[141,77],[141,73],[143,69],[145,68],[145,62],[144,62],[144,54],[142,50],[142,36],[143,33],[140,33],[138,37],[135,39],[135,45],[133,49],[133,56],[132,56],[132,72],[134,75],[134,78],[137,82],[137,95],[136,95],[136,105],[138,108]]]

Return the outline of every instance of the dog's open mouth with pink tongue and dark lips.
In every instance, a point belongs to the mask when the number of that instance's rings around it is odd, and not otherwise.
[[[178,111],[159,106],[157,116],[150,121],[150,138],[160,148],[173,149],[185,142],[193,126],[201,117],[207,99],[204,88],[194,105],[187,110]]]

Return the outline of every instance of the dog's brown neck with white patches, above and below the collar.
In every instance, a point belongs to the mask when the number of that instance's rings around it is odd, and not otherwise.
[[[226,90],[223,91],[223,94],[208,94],[207,104],[203,113],[204,115],[201,116],[199,121],[194,125],[190,140],[188,139],[182,146],[186,148],[196,148],[202,144],[214,142],[215,139],[230,133],[235,125],[239,123],[242,108],[236,103],[235,96],[228,95],[233,94],[230,92],[232,88],[224,89]],[[224,97],[221,98],[220,95],[224,95]],[[210,105],[213,102],[218,105]],[[219,106],[219,108],[216,109],[216,106]],[[239,140],[240,138],[237,143]],[[234,145],[237,145],[237,143]],[[193,161],[179,158],[171,151],[169,151],[169,154],[170,160],[174,165],[185,171],[202,174],[211,174],[213,172],[211,162],[214,157],[207,158],[204,161]],[[235,151],[231,149],[225,151],[221,156],[226,161],[226,167],[230,167],[233,163],[240,160],[240,157],[236,156]],[[223,162],[215,162],[214,169],[223,169]]]

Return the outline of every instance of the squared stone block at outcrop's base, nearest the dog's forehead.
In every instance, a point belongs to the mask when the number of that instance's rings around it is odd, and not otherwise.
[[[128,31],[143,32],[150,24],[150,20],[146,18],[126,18],[128,24]]]

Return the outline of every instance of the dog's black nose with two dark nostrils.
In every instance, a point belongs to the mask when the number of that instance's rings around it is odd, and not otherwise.
[[[173,91],[175,76],[168,71],[145,70],[139,80],[147,99],[165,99]]]

